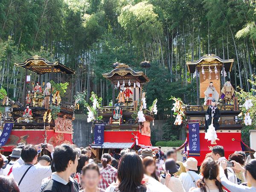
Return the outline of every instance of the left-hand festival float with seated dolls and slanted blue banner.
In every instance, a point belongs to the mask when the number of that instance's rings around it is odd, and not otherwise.
[[[14,102],[4,96],[3,105],[11,105],[7,116],[1,114],[3,125],[0,136],[0,147],[4,152],[12,151],[17,143],[50,143],[54,146],[61,143],[73,143],[72,121],[73,108],[61,102],[59,90],[55,90],[53,82],[55,73],[75,74],[75,71],[58,61],[50,62],[35,55],[15,67],[26,70],[23,101]],[[50,82],[31,82],[28,71],[41,76],[48,75]],[[33,84],[35,86],[33,87]]]

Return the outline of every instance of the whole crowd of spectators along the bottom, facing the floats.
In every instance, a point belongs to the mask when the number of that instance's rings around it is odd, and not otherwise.
[[[96,160],[90,147],[47,143],[49,156],[42,147],[19,143],[8,158],[0,154],[0,192],[256,192],[256,160],[243,151],[226,159],[219,145],[201,167],[193,157],[177,160],[175,148],[123,149]]]

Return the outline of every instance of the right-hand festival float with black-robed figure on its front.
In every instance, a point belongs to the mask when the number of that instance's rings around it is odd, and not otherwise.
[[[177,114],[175,125],[186,130],[186,141],[178,148],[185,148],[188,157],[195,157],[199,165],[215,145],[222,145],[225,157],[234,151],[255,152],[241,140],[242,123],[251,125],[250,116],[244,120],[241,105],[251,107],[249,99],[238,103],[232,82],[227,77],[234,60],[221,59],[216,55],[204,55],[198,61],[187,61],[189,73],[194,73],[197,87],[197,105],[185,105],[175,100],[173,111]],[[200,105],[199,99],[204,99]],[[249,116],[249,117],[248,117]]]

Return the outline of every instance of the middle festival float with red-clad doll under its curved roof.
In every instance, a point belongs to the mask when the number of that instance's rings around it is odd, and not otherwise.
[[[142,71],[126,64],[115,63],[113,66],[111,72],[102,74],[113,87],[112,106],[97,108],[94,99],[96,113],[87,108],[88,121],[93,121],[94,141],[91,148],[97,158],[113,149],[152,148],[150,122],[154,122],[154,114],[157,113],[157,100],[147,109],[143,85],[149,79]]]

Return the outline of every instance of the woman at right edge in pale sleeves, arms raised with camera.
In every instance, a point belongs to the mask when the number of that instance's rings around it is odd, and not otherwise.
[[[234,170],[244,172],[247,183],[241,185],[231,183],[224,173],[224,170],[227,169],[227,161],[222,160],[220,163],[220,178],[222,185],[232,192],[256,192],[256,159],[249,160],[244,168],[240,163],[237,163],[234,160],[231,162],[234,164]]]

